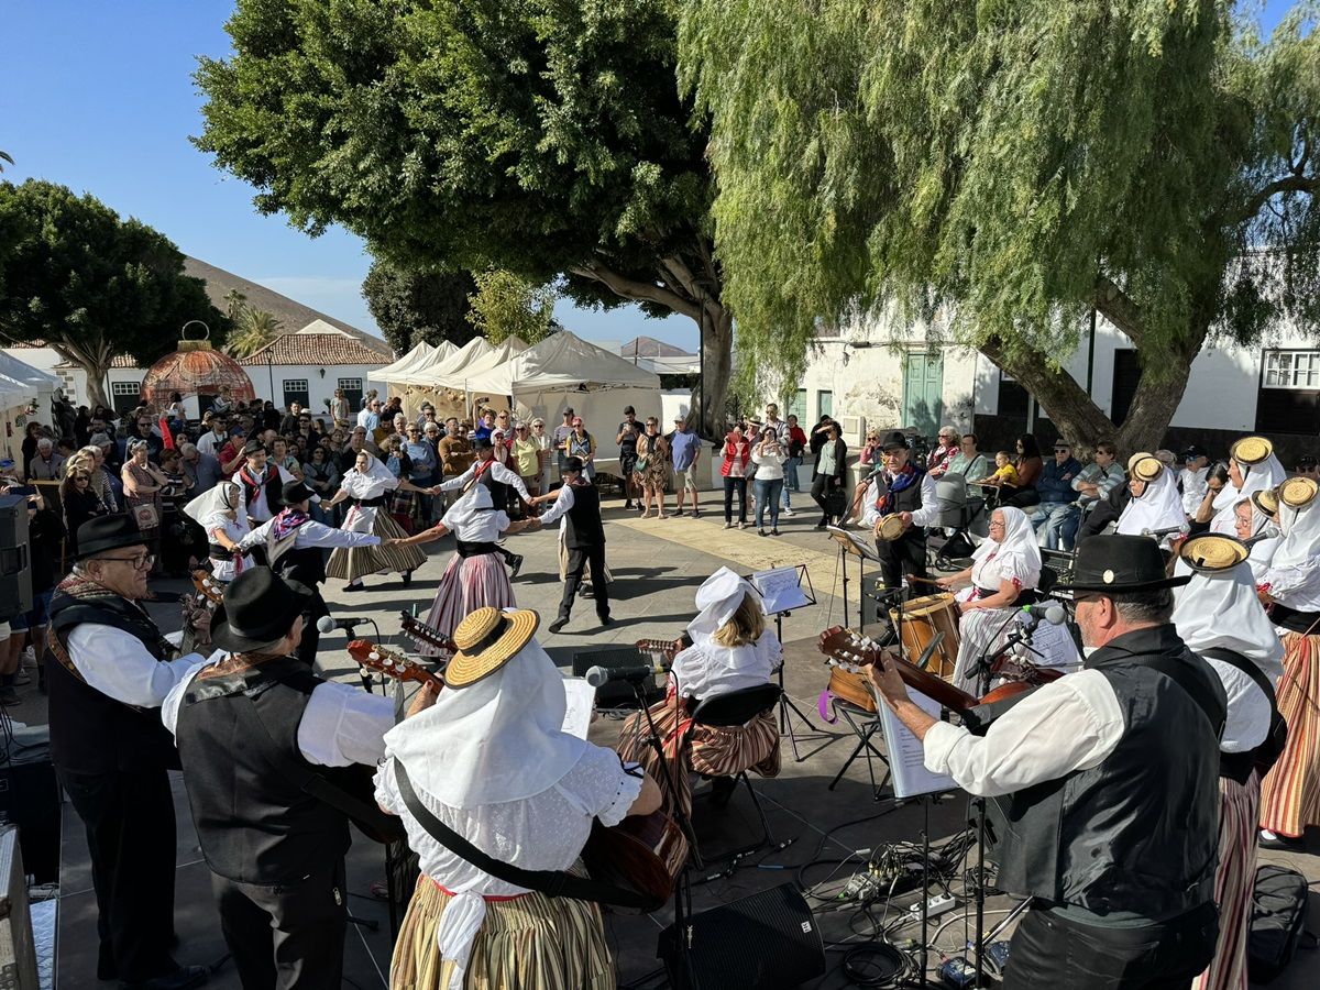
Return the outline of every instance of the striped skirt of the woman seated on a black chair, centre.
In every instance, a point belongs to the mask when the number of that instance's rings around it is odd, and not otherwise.
[[[640,763],[660,783],[671,810],[675,797],[685,816],[692,810],[692,781],[688,779],[692,771],[711,777],[727,777],[744,770],[763,777],[779,776],[779,722],[774,710],[763,711],[743,726],[696,725],[686,711],[678,711],[671,688],[664,701],[651,706],[651,718],[664,741],[665,760],[675,775],[669,781],[672,787],[660,779],[660,758],[648,742],[651,729],[644,713],[628,715],[614,748],[623,759]]]

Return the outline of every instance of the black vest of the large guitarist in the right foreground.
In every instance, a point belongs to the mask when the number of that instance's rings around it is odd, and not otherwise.
[[[1118,636],[1086,668],[1114,689],[1123,737],[1098,767],[994,800],[999,886],[1101,915],[1170,917],[1213,900],[1218,677],[1171,624]]]

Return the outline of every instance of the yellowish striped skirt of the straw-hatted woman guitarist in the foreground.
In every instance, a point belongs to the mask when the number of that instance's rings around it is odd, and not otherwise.
[[[582,874],[579,867],[572,873]],[[441,958],[436,925],[450,896],[417,878],[395,954],[391,990],[447,990],[454,964]],[[614,990],[614,958],[599,904],[527,894],[486,906],[463,990]]]

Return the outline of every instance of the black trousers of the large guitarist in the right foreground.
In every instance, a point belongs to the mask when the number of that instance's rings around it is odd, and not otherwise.
[[[1187,990],[1214,956],[1218,911],[1203,904],[1142,928],[1077,924],[1032,908],[1008,945],[1005,990]]]

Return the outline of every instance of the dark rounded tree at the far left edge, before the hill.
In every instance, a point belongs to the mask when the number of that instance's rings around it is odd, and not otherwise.
[[[205,321],[216,345],[228,331],[165,235],[67,186],[0,182],[0,342],[45,341],[87,372],[92,403],[110,404],[117,355],[148,367],[189,319]]]

